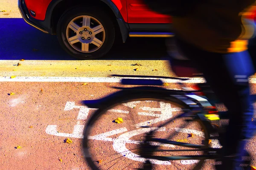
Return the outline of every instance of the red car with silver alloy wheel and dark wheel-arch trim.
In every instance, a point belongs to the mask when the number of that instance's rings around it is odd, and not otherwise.
[[[18,0],[18,7],[26,23],[57,34],[61,47],[80,59],[104,56],[116,37],[172,36],[171,18],[143,0]]]

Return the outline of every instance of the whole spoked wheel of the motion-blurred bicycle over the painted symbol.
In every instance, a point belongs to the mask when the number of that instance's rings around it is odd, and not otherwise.
[[[169,95],[148,92],[128,92],[122,98],[109,101],[98,109],[84,129],[83,151],[87,163],[93,170],[132,170],[143,167],[146,159],[138,155],[139,146],[146,133],[164,122],[183,113],[188,108],[183,102]],[[122,118],[122,123],[116,123]],[[175,119],[154,133],[157,138],[208,147],[207,129],[196,121],[185,122]],[[147,126],[147,127],[143,127]],[[193,137],[188,137],[193,133]],[[204,151],[172,144],[153,143],[158,149],[172,150],[157,152],[157,156],[204,155]],[[177,150],[190,150],[177,152]],[[151,159],[153,169],[192,170],[199,169],[204,160],[160,161]]]

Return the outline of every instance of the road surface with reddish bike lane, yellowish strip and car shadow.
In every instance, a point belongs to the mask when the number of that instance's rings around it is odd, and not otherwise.
[[[81,150],[82,130],[95,109],[86,108],[82,101],[100,99],[117,91],[112,86],[122,86],[119,84],[120,79],[109,77],[110,74],[175,76],[166,60],[168,55],[164,39],[129,38],[125,44],[116,42],[102,59],[82,61],[68,56],[61,49],[56,36],[44,34],[27,25],[20,18],[16,0],[1,0],[0,11],[2,10],[6,10],[0,12],[0,165],[2,169],[88,170]],[[140,66],[135,65],[136,63]],[[14,78],[10,78],[12,76]],[[253,94],[256,92],[254,78],[250,79]],[[163,81],[169,83],[165,88],[180,88],[176,81],[168,79]],[[195,78],[186,82],[186,85],[192,87],[195,83],[201,82],[204,82],[203,78]],[[113,167],[116,170],[141,163],[141,160],[134,159],[132,154],[123,154],[125,148],[133,149],[136,146],[131,140],[141,132],[117,133],[126,126],[129,115],[127,111],[131,107],[140,108],[140,110],[134,109],[138,116],[137,121],[147,123],[164,120],[166,115],[172,116],[179,111],[175,106],[161,103],[157,105],[148,102],[139,107],[140,104],[142,103],[122,105],[121,108],[113,110],[115,112],[111,116],[107,115],[104,121],[96,123],[91,134],[95,143],[91,146],[96,159],[102,160],[102,165],[107,162],[111,153],[120,155],[122,159],[119,161],[124,162],[120,167]],[[165,114],[161,110],[162,106],[169,107],[172,114]],[[220,109],[224,108],[220,106]],[[113,122],[119,116],[124,119],[124,123]],[[179,125],[180,122],[177,121],[172,126],[166,126],[160,131],[160,135],[164,136]],[[175,140],[189,142],[203,140],[202,131],[196,125],[175,130],[180,132]],[[115,133],[109,133],[110,131]],[[106,133],[107,135],[102,135]],[[188,137],[188,133],[194,133],[195,136]],[[72,143],[66,143],[67,138],[72,140]],[[220,147],[218,141],[212,141],[212,145]],[[256,137],[247,144],[247,150],[252,154],[253,164],[256,165]],[[186,170],[187,167],[194,166],[195,162],[176,163],[173,165],[175,167],[156,164],[158,169],[168,167]],[[169,163],[165,162],[165,164]],[[214,162],[207,161],[204,169],[213,169],[213,164]]]

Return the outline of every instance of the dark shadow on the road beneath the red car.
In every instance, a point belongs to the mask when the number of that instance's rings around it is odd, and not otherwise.
[[[0,18],[0,59],[76,60],[59,45],[57,36],[29,26],[22,18]],[[102,59],[166,59],[165,39],[128,38],[114,43]]]

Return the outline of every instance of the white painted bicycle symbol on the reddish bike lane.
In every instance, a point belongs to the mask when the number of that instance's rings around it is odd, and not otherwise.
[[[136,106],[136,104],[138,102],[140,102],[140,101],[128,102],[128,103],[124,103],[123,105],[133,108]],[[150,101],[148,101],[148,102],[150,102]],[[45,132],[47,134],[54,135],[54,136],[63,136],[63,137],[70,137],[70,138],[84,138],[84,136],[83,136],[84,125],[80,125],[80,120],[86,120],[88,113],[91,110],[96,110],[96,108],[87,108],[86,106],[77,106],[75,104],[75,102],[67,102],[65,105],[64,111],[70,111],[74,108],[79,109],[79,114],[77,116],[78,122],[74,126],[73,133],[60,133],[57,130],[57,125],[48,125]],[[172,108],[169,103],[165,103],[165,102],[160,102],[160,108],[141,107],[140,109],[142,109],[145,112],[138,112],[138,115],[154,116],[157,118],[150,119],[145,122],[140,122],[135,125],[137,128],[141,127],[141,126],[148,125],[148,122],[150,122],[150,124],[154,124],[157,122],[165,121],[167,119],[172,118],[172,111],[181,111],[180,108]],[[123,110],[113,110],[112,109],[110,111],[119,112],[119,113],[129,113],[128,111],[123,111]],[[154,111],[160,111],[161,114],[155,114]],[[142,128],[142,129],[137,129],[137,130],[132,130],[132,131],[126,132],[128,130],[125,127],[122,127],[122,128],[119,128],[116,130],[111,130],[111,131],[101,133],[101,134],[98,134],[95,136],[90,136],[89,139],[113,142],[113,149],[117,153],[122,154],[123,156],[125,156],[128,159],[144,162],[145,159],[140,158],[137,154],[129,151],[126,148],[125,144],[127,144],[127,143],[139,144],[138,141],[134,141],[134,140],[130,140],[130,139],[133,136],[147,133],[150,130],[153,130],[154,128],[156,128],[156,127],[148,127],[148,128]],[[186,128],[172,128],[172,129],[175,129],[176,132],[193,133],[196,136],[204,137],[204,133],[199,130],[192,130],[192,129],[186,129]],[[158,131],[165,131],[165,130],[166,130],[165,127],[161,127],[160,129],[158,129]],[[126,133],[124,133],[124,132],[126,132]],[[109,136],[113,136],[113,135],[116,135],[119,133],[122,133],[122,134],[117,138],[109,137]],[[166,145],[168,145],[168,147],[175,147],[174,145],[171,145],[171,144],[166,144]],[[212,140],[212,147],[219,148],[219,147],[221,147],[221,145],[219,144],[218,140]],[[151,162],[154,164],[166,164],[166,165],[171,164],[169,161],[151,160]],[[193,164],[196,162],[191,160],[191,161],[181,161],[181,163],[182,164]]]

